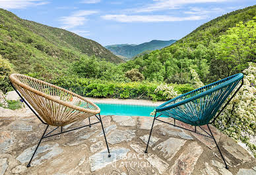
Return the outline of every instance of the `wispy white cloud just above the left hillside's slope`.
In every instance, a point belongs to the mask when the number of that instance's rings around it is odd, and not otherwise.
[[[88,19],[86,16],[98,13],[97,11],[77,11],[73,13],[71,16],[63,16],[59,18],[59,21],[63,24],[61,28],[69,29],[75,28],[76,26],[81,26]]]

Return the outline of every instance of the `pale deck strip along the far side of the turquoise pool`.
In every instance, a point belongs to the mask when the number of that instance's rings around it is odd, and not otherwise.
[[[108,104],[120,104],[120,105],[142,105],[142,106],[154,106],[158,107],[166,101],[151,101],[141,99],[106,99],[106,98],[92,98],[86,97],[86,99],[93,103],[108,103]]]

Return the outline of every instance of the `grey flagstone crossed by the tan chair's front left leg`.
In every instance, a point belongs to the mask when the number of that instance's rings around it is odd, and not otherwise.
[[[36,149],[36,145],[25,149],[16,158],[16,160],[20,161],[21,163],[29,162],[35,149]],[[44,161],[44,159],[51,159],[52,157],[55,157],[56,155],[59,155],[62,152],[63,152],[63,149],[61,147],[59,147],[59,144],[57,144],[57,143],[55,143],[54,145],[46,144],[46,145],[39,146],[38,150],[36,151],[36,154],[34,155],[31,166],[34,166],[36,164],[42,164],[42,161]],[[46,153],[46,154],[42,155],[40,153]],[[39,154],[41,155],[40,157],[38,156]],[[38,157],[39,157],[39,159],[37,159]]]

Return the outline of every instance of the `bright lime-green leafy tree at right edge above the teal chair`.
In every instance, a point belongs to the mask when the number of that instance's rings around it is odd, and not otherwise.
[[[256,60],[256,16],[246,23],[240,22],[220,36],[216,59],[226,64],[226,75],[241,72],[248,62]]]

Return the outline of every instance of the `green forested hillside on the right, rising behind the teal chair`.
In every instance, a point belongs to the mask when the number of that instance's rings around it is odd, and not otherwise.
[[[178,84],[191,82],[193,70],[205,83],[241,72],[256,61],[255,16],[256,5],[222,15],[160,51],[127,62],[125,70],[137,68],[145,79]]]

